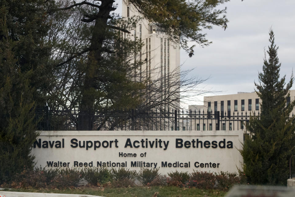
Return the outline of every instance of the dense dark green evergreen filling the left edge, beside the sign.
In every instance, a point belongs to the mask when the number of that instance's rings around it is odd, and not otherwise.
[[[34,166],[35,106],[45,101],[44,1],[0,1],[0,183]]]

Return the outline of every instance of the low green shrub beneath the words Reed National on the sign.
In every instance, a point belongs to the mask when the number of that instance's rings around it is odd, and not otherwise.
[[[84,168],[81,170],[84,179],[91,185],[98,185],[107,183],[112,180],[112,174],[107,168]]]

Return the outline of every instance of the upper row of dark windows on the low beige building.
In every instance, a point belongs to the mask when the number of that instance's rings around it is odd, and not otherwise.
[[[248,99],[248,110],[252,111],[252,99]],[[259,98],[255,99],[255,110],[259,110]],[[211,111],[211,102],[208,102],[208,111]],[[224,113],[224,101],[220,102],[221,114]],[[230,100],[227,101],[227,114],[230,115]],[[234,111],[238,111],[238,100],[234,100]],[[241,111],[245,111],[245,99],[241,100]],[[214,112],[217,112],[217,101],[214,101]]]

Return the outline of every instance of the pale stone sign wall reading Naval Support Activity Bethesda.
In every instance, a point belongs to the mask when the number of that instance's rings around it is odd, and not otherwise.
[[[237,172],[242,142],[242,131],[42,131],[32,154],[41,167]]]

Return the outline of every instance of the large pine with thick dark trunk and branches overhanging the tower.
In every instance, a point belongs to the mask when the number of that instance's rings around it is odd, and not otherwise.
[[[193,49],[188,46],[189,41],[196,42],[201,46],[210,43],[205,38],[206,34],[201,33],[203,29],[211,29],[212,25],[226,27],[226,17],[220,16],[226,12],[226,9],[215,9],[216,6],[224,2],[227,0],[127,1],[139,11],[142,17],[167,32],[172,41],[179,42],[190,56],[193,54]],[[79,88],[81,93],[74,94],[77,95],[77,102],[74,103],[77,104],[81,113],[79,120],[76,121],[79,130],[92,130],[94,111],[101,107],[103,109],[108,109],[105,108],[106,106],[136,108],[138,104],[142,103],[141,94],[147,83],[137,83],[134,77],[131,77],[130,72],[142,62],[138,62],[137,65],[132,64],[132,59],[129,58],[134,57],[134,54],[131,54],[139,49],[142,43],[120,38],[120,32],[130,33],[136,19],[129,18],[123,21],[116,17],[115,14],[112,14],[112,11],[116,10],[116,7],[113,7],[114,3],[115,1],[107,0],[97,2],[69,1],[66,5],[61,5],[59,9],[50,10],[56,12],[78,9],[83,15],[81,21],[89,24],[90,34],[87,37],[88,42],[85,42],[85,47],[79,48],[74,53],[68,53],[64,56],[66,58],[58,63],[58,66],[62,66],[81,56],[84,58],[83,64],[79,66],[83,73]],[[118,60],[118,58],[122,59]],[[125,62],[126,59],[128,59],[128,65]],[[117,63],[118,65],[114,65]],[[118,86],[120,83],[122,86]],[[152,105],[158,103],[155,99],[150,100],[155,101]]]

